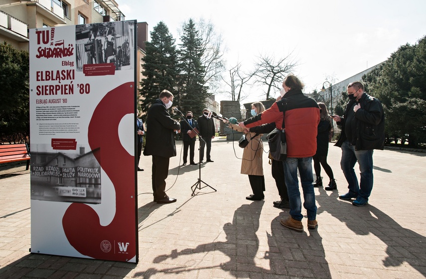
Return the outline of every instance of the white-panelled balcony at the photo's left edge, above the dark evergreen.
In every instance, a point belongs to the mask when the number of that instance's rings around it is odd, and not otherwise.
[[[0,11],[0,34],[17,42],[28,42],[28,24]]]

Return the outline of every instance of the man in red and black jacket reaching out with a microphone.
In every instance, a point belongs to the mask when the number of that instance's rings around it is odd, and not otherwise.
[[[284,163],[285,184],[290,202],[290,216],[281,219],[281,224],[289,229],[302,232],[301,199],[297,170],[303,190],[303,206],[307,211],[308,228],[316,228],[315,193],[312,186],[312,156],[316,152],[317,127],[320,120],[317,102],[302,93],[304,85],[294,75],[285,77],[281,95],[283,98],[255,117],[240,123],[242,127],[255,127],[275,122],[281,130],[285,122],[287,139],[287,159]],[[284,118],[285,110],[285,118]]]

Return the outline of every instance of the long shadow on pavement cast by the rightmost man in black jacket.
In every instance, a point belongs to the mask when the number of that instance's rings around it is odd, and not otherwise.
[[[327,211],[357,235],[372,234],[380,239],[387,246],[385,251],[387,257],[382,261],[384,267],[398,267],[407,263],[426,277],[425,236],[403,228],[371,204],[357,207],[348,201],[338,199],[339,194],[336,191],[330,196],[323,188],[319,188],[319,192],[320,194],[315,196],[320,205],[317,214]],[[330,203],[336,199],[338,203],[331,205]],[[360,249],[369,249],[369,242],[357,244]],[[363,255],[362,251],[354,251],[354,254]]]

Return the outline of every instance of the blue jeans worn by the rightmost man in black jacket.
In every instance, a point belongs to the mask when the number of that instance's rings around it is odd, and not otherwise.
[[[341,148],[342,159],[340,160],[340,167],[348,182],[349,192],[358,194],[368,200],[373,189],[373,149],[355,150],[355,146],[347,140],[343,142]],[[354,170],[357,161],[361,172],[359,185]]]

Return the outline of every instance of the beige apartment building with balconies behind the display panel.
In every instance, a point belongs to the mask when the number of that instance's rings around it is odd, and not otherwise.
[[[0,42],[28,50],[28,29],[121,20],[115,0],[0,0]]]

